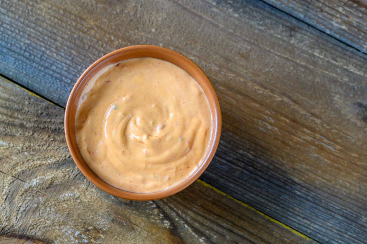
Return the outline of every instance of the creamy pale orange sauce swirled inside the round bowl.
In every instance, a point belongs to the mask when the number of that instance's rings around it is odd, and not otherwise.
[[[196,171],[212,121],[202,88],[185,70],[160,59],[134,58],[88,81],[75,130],[83,159],[103,181],[149,193]]]

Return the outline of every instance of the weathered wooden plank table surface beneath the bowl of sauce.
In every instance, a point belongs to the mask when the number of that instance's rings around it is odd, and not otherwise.
[[[0,244],[367,243],[366,6],[1,0]],[[63,131],[83,70],[136,44],[196,62],[223,116],[200,180],[156,201],[91,184]]]

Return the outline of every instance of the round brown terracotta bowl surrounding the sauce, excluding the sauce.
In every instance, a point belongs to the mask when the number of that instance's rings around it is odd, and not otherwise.
[[[186,72],[188,72],[203,88],[204,93],[209,101],[212,118],[212,132],[210,143],[208,150],[204,155],[204,160],[201,162],[201,165],[199,165],[199,167],[193,174],[191,174],[188,178],[186,178],[183,182],[179,183],[178,185],[175,185],[166,190],[153,193],[128,192],[113,187],[108,183],[106,183],[105,181],[103,181],[96,174],[94,174],[94,172],[88,167],[88,165],[84,161],[83,157],[79,152],[75,138],[75,112],[77,108],[77,103],[79,101],[80,94],[83,91],[83,88],[87,84],[88,80],[91,79],[91,77],[95,73],[97,73],[100,69],[102,69],[106,65],[117,63],[119,61],[123,61],[126,59],[143,58],[143,57],[163,59],[168,62],[174,63],[175,65],[186,70]],[[154,200],[163,197],[168,197],[171,196],[172,194],[175,194],[185,189],[191,183],[193,183],[204,172],[204,170],[208,167],[210,161],[212,160],[214,153],[218,148],[219,138],[221,135],[221,127],[222,127],[222,116],[221,116],[221,110],[219,108],[217,94],[215,94],[212,84],[210,83],[208,77],[204,74],[204,72],[199,68],[199,66],[197,66],[190,59],[186,58],[182,54],[179,54],[178,52],[172,51],[167,48],[152,45],[136,45],[131,47],[124,47],[119,50],[110,52],[109,54],[103,56],[102,58],[92,63],[92,65],[89,66],[76,81],[73,90],[70,92],[70,96],[68,102],[66,103],[65,108],[66,143],[68,144],[70,154],[73,157],[73,160],[75,161],[80,171],[92,183],[94,183],[102,190],[110,194],[113,194],[117,197],[130,200]]]

